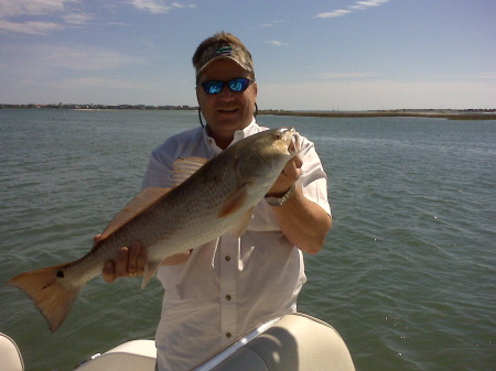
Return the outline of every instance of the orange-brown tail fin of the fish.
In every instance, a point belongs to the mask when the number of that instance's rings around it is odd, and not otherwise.
[[[71,312],[79,291],[85,284],[74,286],[63,283],[64,269],[72,263],[25,272],[11,279],[8,284],[26,293],[48,323],[52,332],[62,325]]]

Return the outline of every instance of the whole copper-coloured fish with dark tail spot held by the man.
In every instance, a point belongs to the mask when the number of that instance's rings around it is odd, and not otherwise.
[[[207,243],[225,232],[241,236],[254,207],[298,153],[294,129],[273,129],[248,137],[206,161],[180,159],[172,189],[147,188],[109,223],[83,258],[22,273],[8,284],[23,290],[55,331],[79,291],[101,273],[106,261],[131,242],[147,248],[142,287],[170,255]]]

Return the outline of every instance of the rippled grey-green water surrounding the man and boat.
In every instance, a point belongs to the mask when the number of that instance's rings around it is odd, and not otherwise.
[[[261,116],[315,142],[334,228],[306,257],[299,309],[333,325],[358,371],[496,368],[496,121]],[[0,110],[0,282],[86,253],[139,192],[150,151],[195,112]],[[0,285],[0,331],[26,370],[72,370],[153,338],[153,280],[86,286],[51,335],[24,294]]]

